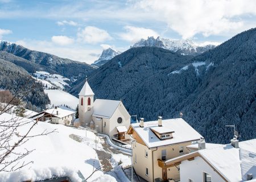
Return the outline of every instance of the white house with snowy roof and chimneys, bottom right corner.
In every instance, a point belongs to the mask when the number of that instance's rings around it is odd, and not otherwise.
[[[179,164],[180,181],[256,181],[256,139],[230,144],[198,144],[188,146],[193,152],[169,159],[164,166]]]

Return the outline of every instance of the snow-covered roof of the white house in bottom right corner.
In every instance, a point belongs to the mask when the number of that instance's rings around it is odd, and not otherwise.
[[[247,173],[256,179],[256,139],[239,143],[240,148],[231,144],[209,150],[199,150],[212,166],[229,181],[246,181]]]

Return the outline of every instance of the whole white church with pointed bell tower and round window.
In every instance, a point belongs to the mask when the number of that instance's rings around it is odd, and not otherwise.
[[[115,139],[126,139],[131,116],[122,101],[96,99],[86,78],[79,93],[79,122]]]

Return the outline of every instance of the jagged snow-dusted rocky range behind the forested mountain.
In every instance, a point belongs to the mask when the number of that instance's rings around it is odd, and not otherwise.
[[[153,36],[148,37],[147,40],[141,39],[131,47],[160,47],[168,49],[170,51],[179,52],[182,55],[193,55],[196,53],[203,53],[209,49],[214,48],[214,45],[200,46],[193,42],[191,39],[173,40],[166,38],[154,38]]]

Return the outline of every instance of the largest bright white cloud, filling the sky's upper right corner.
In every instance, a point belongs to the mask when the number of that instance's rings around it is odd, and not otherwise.
[[[234,34],[246,30],[248,24],[256,23],[255,20],[249,23],[243,19],[243,16],[256,15],[256,1],[253,0],[142,0],[135,7],[166,22],[184,39],[196,34]]]

